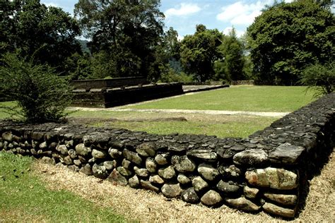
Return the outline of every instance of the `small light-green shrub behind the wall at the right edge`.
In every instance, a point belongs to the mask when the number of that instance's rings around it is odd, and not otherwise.
[[[314,64],[302,71],[300,83],[316,89],[316,96],[335,90],[335,61],[324,65]]]

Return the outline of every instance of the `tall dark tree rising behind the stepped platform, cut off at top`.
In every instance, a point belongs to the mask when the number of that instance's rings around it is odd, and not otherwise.
[[[105,54],[113,72],[106,76],[157,76],[155,47],[163,34],[160,1],[79,0],[75,6],[81,27],[90,38],[93,56]]]

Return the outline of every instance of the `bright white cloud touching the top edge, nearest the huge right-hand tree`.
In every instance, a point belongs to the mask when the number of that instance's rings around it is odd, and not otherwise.
[[[288,0],[290,1],[290,0]],[[216,19],[223,22],[230,22],[233,25],[249,25],[254,18],[261,14],[261,9],[267,4],[272,4],[271,0],[257,1],[254,4],[245,4],[243,1],[237,1],[222,8],[222,12],[216,16]]]

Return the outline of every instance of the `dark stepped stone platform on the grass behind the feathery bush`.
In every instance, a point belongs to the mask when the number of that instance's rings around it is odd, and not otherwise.
[[[182,83],[151,84],[143,77],[74,80],[75,107],[115,107],[184,94]]]

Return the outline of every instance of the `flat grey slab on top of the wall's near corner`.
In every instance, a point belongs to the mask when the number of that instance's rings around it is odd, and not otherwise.
[[[304,147],[284,143],[276,147],[273,152],[270,152],[269,159],[272,163],[297,164],[304,151]]]

